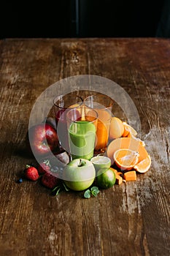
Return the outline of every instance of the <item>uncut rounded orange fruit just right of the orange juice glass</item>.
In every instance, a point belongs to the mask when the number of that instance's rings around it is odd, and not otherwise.
[[[109,140],[120,138],[123,135],[123,132],[124,132],[123,122],[115,116],[112,117],[110,128],[109,128]]]

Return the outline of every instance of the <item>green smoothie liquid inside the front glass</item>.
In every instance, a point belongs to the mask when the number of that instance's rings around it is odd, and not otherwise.
[[[75,121],[69,127],[69,146],[72,159],[93,157],[96,127],[90,121]]]

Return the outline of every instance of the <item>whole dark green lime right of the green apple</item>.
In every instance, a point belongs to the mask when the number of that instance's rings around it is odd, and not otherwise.
[[[101,189],[109,189],[109,187],[113,187],[113,185],[115,185],[115,172],[113,172],[110,168],[98,170],[96,180],[98,187]]]

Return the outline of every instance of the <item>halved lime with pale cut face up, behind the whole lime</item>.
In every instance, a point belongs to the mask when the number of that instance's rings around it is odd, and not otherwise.
[[[104,156],[92,157],[92,159],[90,159],[90,162],[93,162],[96,172],[101,168],[109,168],[111,165],[111,160],[109,159],[109,157]]]

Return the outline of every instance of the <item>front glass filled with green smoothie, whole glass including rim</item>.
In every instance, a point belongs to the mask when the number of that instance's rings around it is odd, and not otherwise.
[[[71,109],[67,113],[69,148],[72,159],[90,160],[95,147],[98,113],[82,107],[82,111]]]

